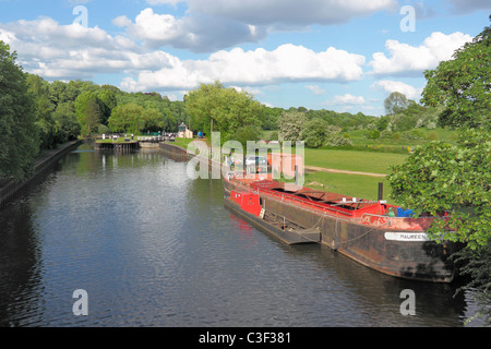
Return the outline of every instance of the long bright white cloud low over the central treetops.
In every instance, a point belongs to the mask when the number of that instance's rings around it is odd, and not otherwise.
[[[282,45],[267,51],[236,48],[218,51],[207,60],[179,60],[171,67],[141,72],[125,79],[129,91],[185,89],[219,80],[225,84],[259,86],[299,81],[356,81],[362,77],[364,57],[330,47],[314,52],[302,46]]]

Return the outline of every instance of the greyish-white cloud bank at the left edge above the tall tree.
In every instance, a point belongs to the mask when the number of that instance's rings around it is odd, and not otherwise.
[[[0,38],[17,51],[28,72],[52,80],[160,69],[172,60],[166,52],[145,52],[132,40],[98,27],[60,25],[48,17],[0,24]]]

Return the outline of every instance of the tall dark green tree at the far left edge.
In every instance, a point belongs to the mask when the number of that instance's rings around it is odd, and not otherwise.
[[[0,178],[25,179],[39,152],[36,107],[16,53],[0,41]]]

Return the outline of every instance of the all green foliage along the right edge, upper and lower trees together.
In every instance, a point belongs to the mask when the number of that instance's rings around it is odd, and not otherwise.
[[[429,230],[436,241],[464,243],[453,255],[477,299],[491,298],[491,48],[490,27],[453,59],[424,73],[422,103],[440,108],[439,122],[459,129],[455,144],[430,142],[388,177],[392,197],[418,215],[448,213]],[[490,312],[480,311],[491,323]]]

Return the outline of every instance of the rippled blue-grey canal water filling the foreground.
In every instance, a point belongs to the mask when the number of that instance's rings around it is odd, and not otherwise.
[[[464,326],[479,308],[453,285],[286,245],[223,195],[161,151],[80,146],[0,212],[0,326]]]

